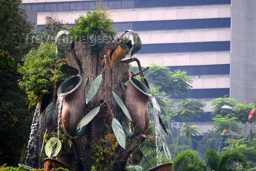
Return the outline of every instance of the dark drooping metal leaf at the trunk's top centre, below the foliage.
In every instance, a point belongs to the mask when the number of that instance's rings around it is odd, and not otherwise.
[[[96,37],[96,41],[95,41],[95,37]],[[94,55],[104,48],[104,45],[105,45],[104,33],[94,34],[94,35],[91,35],[89,38],[91,42],[93,42],[93,45],[91,45],[90,55]]]

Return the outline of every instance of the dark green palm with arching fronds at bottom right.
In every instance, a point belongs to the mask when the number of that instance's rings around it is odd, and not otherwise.
[[[247,166],[245,155],[237,150],[228,150],[219,154],[216,150],[211,149],[206,151],[204,158],[206,166],[214,171],[237,171],[238,165],[241,164],[243,168]],[[235,162],[238,162],[238,165],[235,165]],[[233,168],[230,167],[232,163],[234,164]]]

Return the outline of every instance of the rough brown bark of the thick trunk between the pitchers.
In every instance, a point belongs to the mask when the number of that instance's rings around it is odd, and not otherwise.
[[[113,133],[111,127],[112,114],[114,118],[121,123],[121,108],[114,99],[112,91],[122,99],[120,81],[124,84],[128,80],[129,64],[120,61],[121,56],[118,56],[117,59],[113,60],[112,68],[110,67],[109,59],[111,60],[111,55],[118,45],[121,45],[121,42],[106,43],[105,47],[95,55],[90,55],[91,45],[81,42],[75,43],[74,49],[65,51],[68,65],[78,69],[78,75],[83,78],[81,86],[84,86],[84,81],[87,77],[89,78],[86,85],[85,98],[94,79],[102,73],[102,81],[97,94],[86,104],[87,113],[100,105],[98,100],[104,99],[107,102],[101,106],[99,113],[94,119],[87,124],[84,136],[81,138],[70,138],[72,142],[71,148],[69,148],[67,142],[63,144],[61,152],[57,157],[61,162],[65,163],[71,171],[90,171],[95,163],[95,159],[92,159],[92,157],[95,156],[95,152],[92,152],[91,149],[96,145],[103,146],[101,139],[105,139],[108,133]],[[111,49],[111,51],[109,49]],[[106,55],[106,57],[104,57],[104,55]],[[108,106],[106,104],[108,104]],[[145,134],[148,135],[149,132],[148,130]],[[101,162],[104,162],[107,157],[110,157],[113,159],[113,163],[107,166],[108,170],[123,171],[129,155],[144,139],[141,134],[135,136],[132,140],[127,138],[125,149],[119,145],[116,147],[115,152],[118,154],[116,158],[104,153],[104,160],[101,160]]]

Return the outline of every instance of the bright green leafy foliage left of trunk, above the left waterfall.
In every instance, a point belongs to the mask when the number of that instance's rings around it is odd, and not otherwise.
[[[23,75],[19,86],[28,95],[29,108],[42,100],[42,95],[49,92],[54,81],[64,78],[63,73],[55,70],[58,59],[54,44],[49,43],[42,43],[38,50],[32,49],[22,59],[24,65],[19,65],[17,70]]]

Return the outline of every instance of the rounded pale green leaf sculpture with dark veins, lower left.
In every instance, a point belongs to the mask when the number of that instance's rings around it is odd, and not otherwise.
[[[45,144],[45,154],[49,158],[53,158],[56,156],[61,149],[61,142],[56,137],[53,137],[48,140],[48,142]]]

